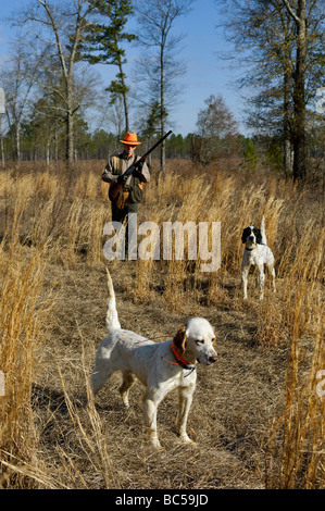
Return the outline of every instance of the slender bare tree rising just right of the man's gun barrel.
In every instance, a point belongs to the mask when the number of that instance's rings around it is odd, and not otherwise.
[[[149,84],[151,103],[160,103],[160,132],[165,133],[165,121],[168,114],[168,99],[175,97],[173,87],[175,78],[185,72],[182,62],[175,59],[183,36],[173,35],[173,26],[179,16],[186,15],[192,0],[138,0],[135,5],[138,15],[138,40],[146,49],[139,60],[139,82]],[[165,141],[161,145],[161,170],[165,169]]]

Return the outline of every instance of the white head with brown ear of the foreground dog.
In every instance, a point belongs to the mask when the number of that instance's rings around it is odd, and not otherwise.
[[[214,329],[203,317],[192,317],[179,328],[174,337],[174,345],[180,357],[185,354],[191,363],[199,362],[205,365],[216,361],[214,341]]]

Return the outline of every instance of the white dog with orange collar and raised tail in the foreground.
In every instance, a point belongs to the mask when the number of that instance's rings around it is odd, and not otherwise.
[[[128,391],[135,376],[147,387],[143,396],[145,427],[151,444],[160,448],[157,434],[157,409],[167,392],[178,388],[177,426],[180,440],[193,444],[186,433],[188,412],[196,388],[196,364],[210,365],[216,361],[213,344],[215,334],[210,323],[193,317],[183,326],[173,340],[153,342],[138,334],[121,328],[115,306],[112,279],[108,271],[109,299],[107,328],[109,336],[98,348],[91,374],[93,394],[115,371],[123,374],[120,394],[128,407]]]

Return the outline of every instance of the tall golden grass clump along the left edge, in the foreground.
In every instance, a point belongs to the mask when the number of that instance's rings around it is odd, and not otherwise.
[[[32,385],[50,308],[47,300],[38,299],[46,262],[41,251],[26,261],[16,242],[9,248],[2,242],[0,252],[0,367],[5,376],[5,395],[0,398],[0,465],[2,469],[25,463],[37,466]],[[29,486],[24,472],[13,474],[4,471],[0,485]]]

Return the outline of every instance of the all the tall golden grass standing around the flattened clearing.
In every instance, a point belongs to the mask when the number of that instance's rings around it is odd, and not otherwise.
[[[259,349],[289,348],[283,412],[268,425],[265,447],[265,486],[324,487],[324,398],[315,394],[315,378],[324,361],[324,226],[318,199],[309,187],[299,188],[272,174],[243,179],[240,171],[199,173],[170,163],[146,190],[138,222],[221,222],[222,266],[202,274],[203,262],[138,260],[133,283],[125,281],[135,301],[164,300],[182,311],[188,301],[227,306],[258,316],[254,341]],[[107,188],[93,172],[64,179],[53,172],[0,174],[0,370],[5,397],[0,397],[0,486],[87,487],[77,457],[59,448],[60,474],[50,474],[38,456],[38,433],[32,388],[42,357],[41,339],[51,325],[53,297],[45,296],[47,265],[87,267],[105,263],[102,229],[110,220]],[[253,278],[249,300],[241,300],[241,230],[265,216],[267,241],[276,258],[277,292],[266,279],[265,299],[258,300]],[[178,240],[179,241],[179,240]],[[177,239],[175,242],[178,242]],[[229,283],[235,283],[229,285]],[[308,354],[307,354],[308,346]],[[82,371],[84,367],[82,367]],[[117,487],[100,417],[90,399],[80,412],[61,384],[65,406],[89,466]],[[87,382],[87,371],[85,381]],[[87,385],[86,385],[87,387]],[[88,428],[83,422],[87,414]],[[74,482],[77,474],[78,485]]]

